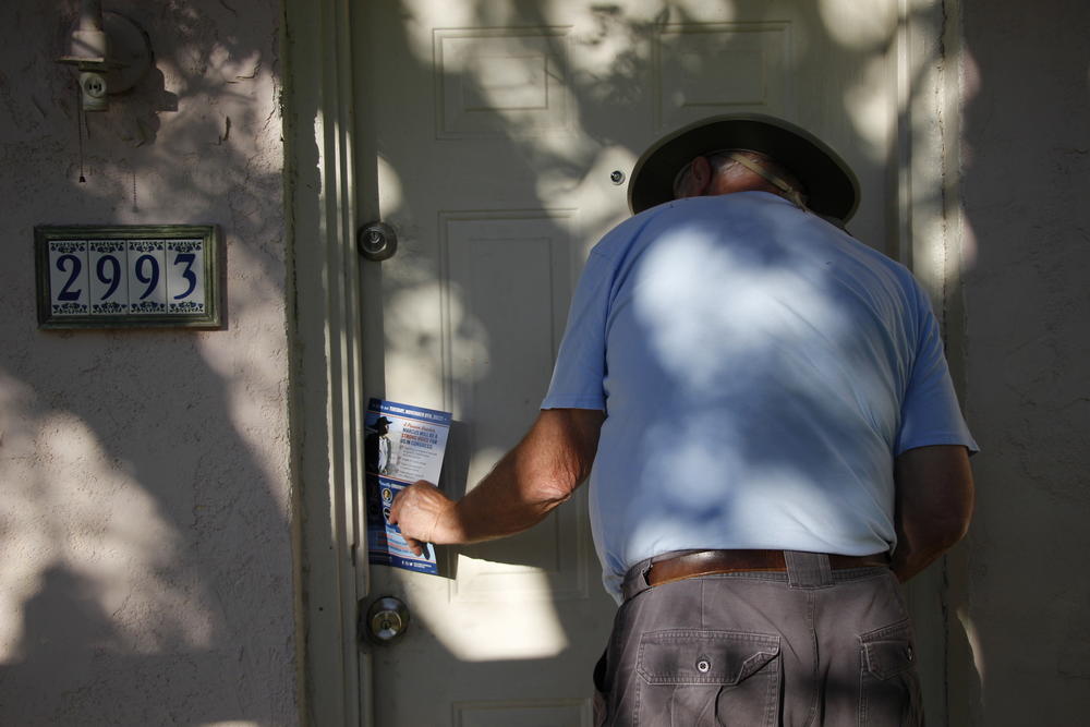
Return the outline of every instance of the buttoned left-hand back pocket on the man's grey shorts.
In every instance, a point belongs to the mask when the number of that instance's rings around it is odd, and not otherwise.
[[[640,640],[634,725],[776,725],[779,637],[676,629]]]

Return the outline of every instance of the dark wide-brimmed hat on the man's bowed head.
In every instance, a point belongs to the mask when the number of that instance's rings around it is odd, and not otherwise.
[[[859,206],[859,181],[827,144],[806,129],[763,113],[702,119],[663,136],[643,153],[628,184],[632,213],[674,198],[674,178],[695,157],[719,149],[766,154],[806,186],[807,207],[841,222]]]

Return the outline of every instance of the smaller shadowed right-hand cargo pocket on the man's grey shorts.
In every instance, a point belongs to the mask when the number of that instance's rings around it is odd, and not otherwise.
[[[923,724],[912,628],[908,621],[859,638],[859,725]]]

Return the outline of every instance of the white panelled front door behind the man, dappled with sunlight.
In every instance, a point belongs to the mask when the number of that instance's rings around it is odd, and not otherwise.
[[[400,239],[362,276],[364,387],[453,412],[448,493],[533,421],[582,262],[628,214],[616,173],[666,130],[730,111],[812,129],[863,184],[852,231],[897,250],[895,4],[858,33],[819,12],[838,4],[360,3],[359,205]],[[614,613],[593,550],[580,494],[528,533],[448,549],[448,578],[372,568],[366,598],[413,618],[372,650],[376,724],[590,724]]]

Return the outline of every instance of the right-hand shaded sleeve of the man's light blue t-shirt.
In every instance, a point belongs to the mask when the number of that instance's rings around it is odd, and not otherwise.
[[[900,431],[894,453],[932,445],[964,445],[970,452],[977,452],[980,448],[961,416],[950,380],[938,320],[919,288],[917,301],[919,338],[900,408]]]

